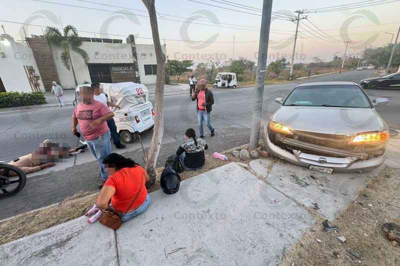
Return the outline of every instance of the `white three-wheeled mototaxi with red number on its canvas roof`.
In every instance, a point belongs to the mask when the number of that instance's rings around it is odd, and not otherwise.
[[[116,130],[125,143],[132,143],[136,134],[151,129],[154,126],[154,109],[148,100],[148,90],[145,85],[133,82],[100,83],[103,93],[109,102],[120,108],[111,107],[114,112]],[[73,105],[79,102],[79,87],[90,86],[81,84],[75,88]]]

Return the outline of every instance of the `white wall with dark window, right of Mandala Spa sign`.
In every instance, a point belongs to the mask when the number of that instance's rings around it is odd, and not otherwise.
[[[161,45],[162,52],[166,57],[166,46]],[[137,64],[140,73],[140,83],[142,84],[154,84],[156,75],[145,75],[144,65],[145,64],[157,64],[154,52],[154,45],[149,44],[136,44]]]

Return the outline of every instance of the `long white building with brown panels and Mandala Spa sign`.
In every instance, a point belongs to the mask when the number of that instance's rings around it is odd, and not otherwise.
[[[26,41],[29,47],[13,40],[10,42],[0,39],[0,52],[2,52],[0,53],[0,78],[3,91],[4,89],[25,92],[37,90],[37,87],[29,86],[29,78],[39,78],[35,84],[40,85],[40,90],[50,91],[51,81],[56,81],[63,88],[75,87],[72,69],[68,70],[62,64],[59,47],[49,45],[47,39],[40,36],[26,38]],[[166,46],[161,47],[166,56]],[[124,81],[155,83],[154,45],[135,44],[133,35],[126,38],[126,43],[122,43],[121,39],[83,37],[80,48],[87,52],[89,61],[85,64],[82,57],[74,51],[70,52],[77,84]],[[4,56],[1,56],[2,54]],[[12,56],[7,56],[7,54]],[[14,56],[16,54],[23,54],[23,56]],[[24,66],[29,67],[29,71],[34,71],[34,78],[26,74],[23,76]],[[18,78],[15,78],[15,72],[18,72]]]

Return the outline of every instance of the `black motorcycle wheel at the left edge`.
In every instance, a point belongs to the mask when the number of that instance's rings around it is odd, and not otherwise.
[[[10,172],[16,176],[10,176]],[[14,196],[23,189],[26,184],[25,173],[16,166],[0,164],[0,199]]]

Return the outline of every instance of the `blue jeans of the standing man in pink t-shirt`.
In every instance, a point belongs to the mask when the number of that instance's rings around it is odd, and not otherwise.
[[[104,170],[103,160],[108,154],[111,153],[111,143],[109,142],[109,138],[110,133],[108,130],[98,138],[86,140],[87,148],[100,163],[100,173],[103,181],[107,180],[108,178],[108,172],[105,172]]]

